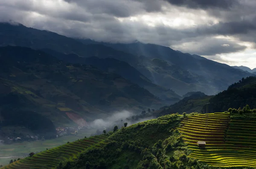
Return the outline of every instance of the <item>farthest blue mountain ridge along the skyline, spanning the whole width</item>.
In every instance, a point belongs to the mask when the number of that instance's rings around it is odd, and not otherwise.
[[[23,25],[0,23],[0,46],[7,45],[51,49],[64,54],[77,54],[79,57],[109,57],[125,61],[151,82],[171,89],[178,95],[196,91],[214,95],[242,77],[251,75],[226,64],[177,52],[166,46],[140,42],[111,44],[75,40]]]

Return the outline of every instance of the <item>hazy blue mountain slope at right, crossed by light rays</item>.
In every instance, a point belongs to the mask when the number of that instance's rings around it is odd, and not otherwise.
[[[80,41],[83,42],[84,40]],[[86,44],[88,42],[88,40],[85,40],[84,43]],[[164,87],[171,86],[170,88],[174,89],[174,91],[180,95],[196,91],[204,92],[207,95],[217,94],[218,92],[226,89],[231,83],[241,79],[241,77],[251,75],[250,73],[234,69],[226,64],[208,60],[196,54],[191,55],[175,51],[166,46],[144,44],[140,42],[129,44],[101,44],[116,50],[129,52],[139,56],[141,59],[144,59],[145,61],[141,63],[143,67],[146,67],[151,73],[153,73],[154,78],[159,77],[156,80],[157,84]],[[155,58],[164,60],[170,66],[175,66],[177,72],[170,72],[169,70],[163,69],[159,66],[152,67],[148,60],[153,60]],[[184,71],[187,73],[180,73]],[[175,73],[178,73],[178,79],[173,76]],[[165,77],[165,80],[161,81],[160,79],[163,79],[163,77]],[[180,79],[180,77],[183,77],[183,79]],[[184,81],[184,79],[187,80],[189,78],[192,78],[194,81],[190,81],[189,83]],[[180,83],[181,81],[185,83]],[[171,84],[175,85],[172,86]],[[177,86],[182,86],[183,90],[177,88]]]

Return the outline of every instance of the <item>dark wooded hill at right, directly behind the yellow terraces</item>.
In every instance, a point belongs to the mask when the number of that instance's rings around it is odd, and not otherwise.
[[[208,96],[202,92],[190,92],[182,100],[155,111],[156,116],[183,112],[224,112],[229,108],[239,109],[246,105],[256,108],[256,76],[242,78],[217,95]]]

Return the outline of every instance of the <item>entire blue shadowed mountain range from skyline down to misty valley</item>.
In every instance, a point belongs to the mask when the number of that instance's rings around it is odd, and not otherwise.
[[[92,121],[158,109],[252,75],[166,46],[73,39],[9,23],[0,23],[0,64],[1,126],[53,136],[56,126],[79,125],[70,114]]]

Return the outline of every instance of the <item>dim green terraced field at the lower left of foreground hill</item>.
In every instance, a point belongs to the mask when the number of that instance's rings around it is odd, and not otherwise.
[[[18,160],[1,169],[49,169],[57,166],[61,161],[77,158],[81,152],[90,147],[100,147],[107,143],[107,136],[99,135],[86,139],[66,143],[47,151],[40,152],[32,157]]]

